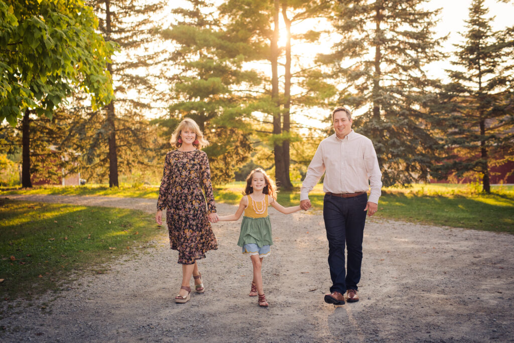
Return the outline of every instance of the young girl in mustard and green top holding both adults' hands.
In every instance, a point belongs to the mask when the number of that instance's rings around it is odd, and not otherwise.
[[[239,202],[235,214],[219,217],[220,221],[237,220],[243,211],[243,222],[237,245],[243,248],[243,254],[250,254],[253,264],[253,281],[250,296],[259,296],[259,306],[268,307],[262,285],[262,260],[270,254],[271,223],[268,216],[268,205],[279,212],[290,214],[300,211],[300,206],[284,207],[279,204],[277,187],[261,168],[253,169],[246,178],[245,196]]]

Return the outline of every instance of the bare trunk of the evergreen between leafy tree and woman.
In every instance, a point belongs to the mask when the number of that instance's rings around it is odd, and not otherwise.
[[[107,31],[106,41],[111,40],[111,9],[109,1],[105,1],[105,29]],[[107,64],[107,70],[111,75],[113,74],[113,66],[111,63]],[[118,155],[116,151],[116,124],[114,112],[114,100],[107,106],[107,127],[108,127],[108,142],[109,142],[109,187],[118,187]]]

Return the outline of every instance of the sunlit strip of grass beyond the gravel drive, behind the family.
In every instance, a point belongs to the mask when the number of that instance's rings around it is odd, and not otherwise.
[[[300,202],[300,184],[292,192],[280,192],[278,201],[284,206]],[[244,182],[217,186],[217,202],[237,204]],[[416,184],[408,188],[384,187],[379,201],[379,218],[421,222],[434,225],[474,228],[477,230],[514,233],[514,186],[492,186],[492,194],[480,192],[479,184]],[[60,194],[113,197],[157,198],[158,186],[107,185],[79,187],[38,187],[33,189],[0,188],[0,195]],[[318,184],[309,194],[313,208],[323,207],[323,189]]]

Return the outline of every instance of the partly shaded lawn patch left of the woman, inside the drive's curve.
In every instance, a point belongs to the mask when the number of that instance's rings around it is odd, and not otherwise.
[[[133,253],[161,232],[141,211],[0,199],[0,294],[59,290],[73,272]]]

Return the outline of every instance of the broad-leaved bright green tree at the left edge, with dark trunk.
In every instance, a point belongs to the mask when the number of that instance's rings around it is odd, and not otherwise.
[[[22,185],[30,182],[30,121],[51,118],[54,108],[80,89],[91,104],[112,99],[105,69],[114,51],[95,32],[90,7],[79,0],[38,2],[0,0],[0,121],[22,119]]]

